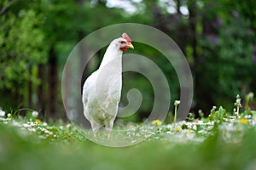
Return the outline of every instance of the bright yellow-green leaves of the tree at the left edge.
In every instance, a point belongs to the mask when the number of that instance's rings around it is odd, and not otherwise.
[[[25,95],[27,82],[39,83],[33,66],[47,60],[42,15],[30,8],[3,14],[0,18],[0,89]]]

